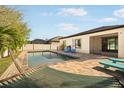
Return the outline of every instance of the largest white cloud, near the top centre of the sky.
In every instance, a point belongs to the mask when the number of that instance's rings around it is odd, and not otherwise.
[[[61,16],[85,16],[87,11],[83,8],[62,8],[57,14]]]

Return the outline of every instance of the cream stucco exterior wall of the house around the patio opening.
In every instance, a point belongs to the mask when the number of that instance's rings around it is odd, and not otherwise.
[[[87,35],[81,35],[81,36],[75,36],[75,37],[70,37],[70,38],[65,38],[60,40],[60,45],[63,43],[64,40],[66,40],[67,45],[72,45],[72,40],[73,39],[81,39],[81,44],[82,47],[81,49],[77,49],[79,52],[83,53],[90,53],[90,37],[95,37],[95,36],[102,36],[102,35],[108,35],[108,34],[114,34],[114,33],[119,33],[119,51],[118,51],[118,57],[124,57],[124,28],[118,28],[118,29],[112,29],[112,30],[106,30],[103,32],[97,32],[97,33],[92,33],[92,34],[87,34]],[[97,47],[101,46],[100,40],[98,42],[92,42],[94,45],[96,45],[96,50],[101,50],[100,48]]]

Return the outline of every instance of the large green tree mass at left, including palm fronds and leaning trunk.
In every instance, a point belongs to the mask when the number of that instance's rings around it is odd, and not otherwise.
[[[3,55],[5,50],[9,50],[15,66],[21,73],[14,53],[18,51],[26,42],[30,29],[22,21],[22,14],[14,9],[0,6],[0,53]]]

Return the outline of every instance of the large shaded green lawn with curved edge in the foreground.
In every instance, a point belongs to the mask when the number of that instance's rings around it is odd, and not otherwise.
[[[113,87],[114,78],[86,76],[65,73],[49,67],[43,67],[28,78],[10,84],[8,87],[43,87],[43,88],[91,88]]]

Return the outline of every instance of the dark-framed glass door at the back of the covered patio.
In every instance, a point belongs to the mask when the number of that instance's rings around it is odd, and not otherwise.
[[[118,38],[117,37],[103,38],[102,50],[117,52],[118,51]]]

